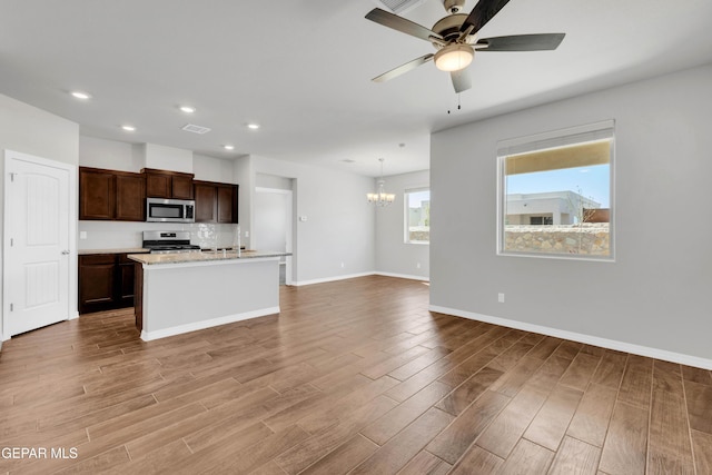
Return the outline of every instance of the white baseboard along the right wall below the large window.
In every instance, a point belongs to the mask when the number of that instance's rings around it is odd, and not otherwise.
[[[698,356],[684,355],[681,353],[668,352],[660,348],[651,348],[649,346],[635,345],[615,339],[601,338],[574,331],[551,328],[541,325],[527,324],[524,321],[510,320],[506,318],[492,317],[488,315],[476,314],[474,311],[459,310],[456,308],[441,307],[431,305],[431,311],[438,314],[454,315],[456,317],[468,318],[471,320],[485,321],[488,324],[500,325],[507,328],[515,328],[525,331],[538,333],[556,338],[570,339],[573,342],[584,343],[586,345],[601,346],[603,348],[615,349],[619,352],[631,353],[633,355],[646,356],[650,358],[663,359],[665,362],[679,363],[681,365],[694,366],[696,368],[712,369],[712,359],[700,358]]]

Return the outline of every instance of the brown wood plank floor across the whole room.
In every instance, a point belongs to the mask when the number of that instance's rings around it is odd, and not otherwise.
[[[130,311],[6,342],[0,474],[712,473],[708,370],[431,314],[405,279],[280,305],[150,343]]]

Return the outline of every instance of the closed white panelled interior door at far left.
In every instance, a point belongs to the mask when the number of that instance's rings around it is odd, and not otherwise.
[[[69,166],[6,152],[6,337],[70,317]]]

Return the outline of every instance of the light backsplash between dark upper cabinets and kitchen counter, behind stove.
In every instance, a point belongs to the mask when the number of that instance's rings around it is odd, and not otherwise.
[[[231,247],[239,225],[78,221],[77,248],[125,249],[141,247],[144,231],[190,231],[190,244],[202,248]],[[86,239],[82,239],[82,232]],[[243,246],[246,239],[241,239]]]

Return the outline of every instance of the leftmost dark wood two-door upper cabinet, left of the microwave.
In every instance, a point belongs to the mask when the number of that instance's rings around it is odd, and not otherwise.
[[[79,168],[79,219],[142,221],[146,181],[141,174]]]

